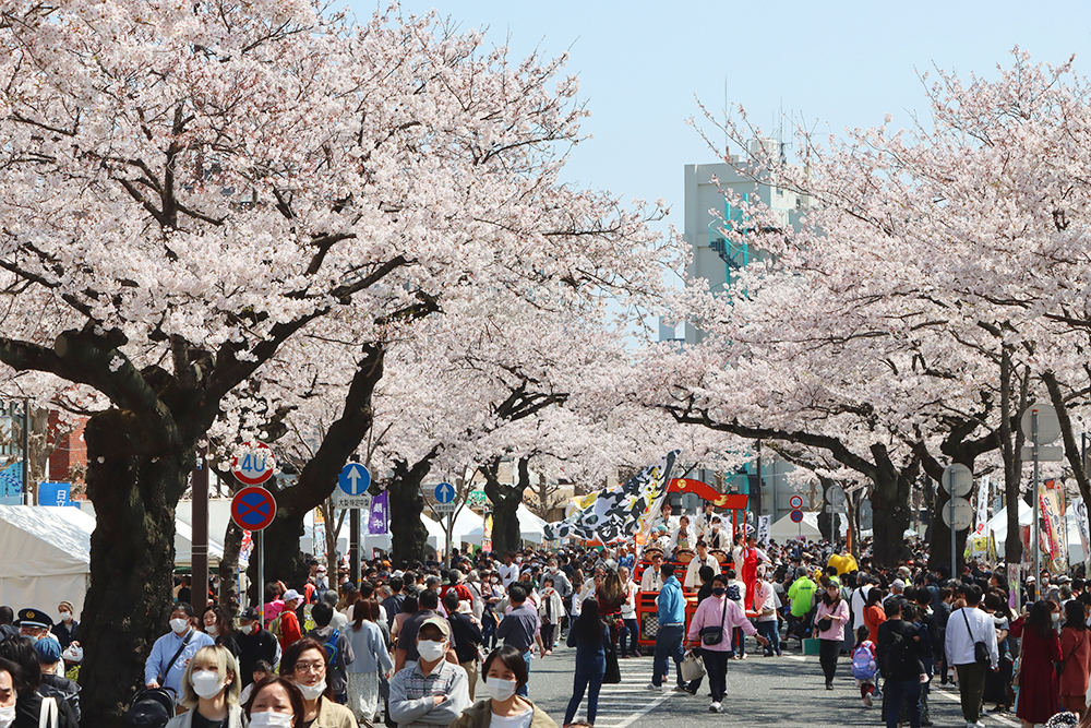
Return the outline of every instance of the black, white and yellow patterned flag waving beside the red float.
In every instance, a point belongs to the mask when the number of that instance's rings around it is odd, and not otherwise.
[[[546,539],[579,538],[608,544],[618,538],[646,536],[667,497],[667,484],[681,452],[672,450],[622,486],[583,497],[564,521],[546,524]]]

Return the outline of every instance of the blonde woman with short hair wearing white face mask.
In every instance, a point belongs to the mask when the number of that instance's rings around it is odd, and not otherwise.
[[[181,704],[167,728],[242,728],[239,664],[226,647],[202,647],[185,667]]]

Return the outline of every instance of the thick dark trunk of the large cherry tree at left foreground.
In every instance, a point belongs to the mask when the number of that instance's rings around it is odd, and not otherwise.
[[[194,447],[136,452],[146,423],[117,409],[87,422],[87,496],[97,524],[91,537],[91,588],[84,605],[80,671],[83,725],[121,726],[144,684],[144,660],[167,632],[175,564],[175,505],[194,464]]]

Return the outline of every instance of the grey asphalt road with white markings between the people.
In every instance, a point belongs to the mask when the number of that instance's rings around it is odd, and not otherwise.
[[[711,699],[707,683],[697,695],[674,693],[673,671],[667,692],[645,690],[651,680],[651,658],[621,660],[622,683],[603,685],[599,699],[599,716],[595,728],[685,728],[708,726],[778,726],[781,728],[825,728],[840,726],[880,726],[882,715],[876,704],[867,709],[861,705],[860,691],[852,679],[848,657],[838,663],[835,690],[825,689],[817,656],[803,657],[796,642],[783,657],[751,655],[745,660],[728,665],[728,694],[724,712],[708,712]],[[753,648],[754,643],[750,642]],[[549,713],[558,725],[572,695],[574,649],[563,645],[544,659],[536,658],[530,671],[530,700]],[[937,728],[962,728],[958,689],[939,688],[933,680],[931,714]],[[877,701],[876,701],[877,703]],[[585,715],[585,703],[577,717]],[[986,706],[992,707],[992,706]],[[983,718],[986,726],[1019,726],[1014,715]],[[908,728],[908,725],[907,725]]]

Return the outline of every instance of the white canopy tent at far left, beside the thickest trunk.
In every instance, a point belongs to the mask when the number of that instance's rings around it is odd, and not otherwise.
[[[19,611],[71,601],[79,616],[91,580],[95,520],[72,506],[0,505],[0,604]]]

